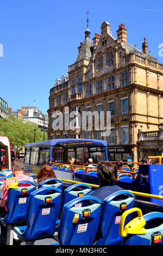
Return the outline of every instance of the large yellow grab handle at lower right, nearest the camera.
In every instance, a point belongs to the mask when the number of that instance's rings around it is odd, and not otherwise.
[[[131,220],[125,227],[124,222],[126,221],[126,217],[132,212],[137,211],[138,217]],[[144,228],[146,225],[145,219],[142,216],[142,211],[139,208],[131,208],[127,211],[124,211],[121,217],[119,234],[121,236],[127,236],[128,234],[146,234],[146,229]]]

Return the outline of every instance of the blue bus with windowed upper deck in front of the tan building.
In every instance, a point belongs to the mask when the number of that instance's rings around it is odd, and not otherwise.
[[[48,163],[55,169],[58,178],[78,180],[83,175],[65,172],[64,164],[68,164],[71,158],[79,159],[82,167],[86,167],[87,159],[93,159],[93,163],[108,160],[107,143],[98,139],[52,139],[51,141],[26,144],[24,167],[26,172],[37,174],[43,164]],[[56,168],[57,166],[57,168]],[[72,167],[73,164],[68,166]],[[93,180],[92,180],[93,179]],[[97,177],[81,179],[82,182],[98,184]]]

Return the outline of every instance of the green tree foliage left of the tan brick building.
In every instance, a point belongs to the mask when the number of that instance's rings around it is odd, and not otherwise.
[[[10,141],[11,149],[25,147],[26,143],[43,141],[43,132],[37,124],[25,123],[23,119],[15,118],[9,114],[7,118],[0,119],[0,135],[7,136]],[[45,133],[45,141],[47,141],[47,133]]]

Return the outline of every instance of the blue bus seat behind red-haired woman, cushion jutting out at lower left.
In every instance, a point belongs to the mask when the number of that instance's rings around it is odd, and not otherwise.
[[[26,242],[26,245],[53,236],[60,211],[61,193],[59,188],[48,186],[30,194],[27,225],[14,228],[18,238]]]

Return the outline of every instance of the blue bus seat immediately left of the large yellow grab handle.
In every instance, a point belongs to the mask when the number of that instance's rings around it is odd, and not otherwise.
[[[126,209],[133,208],[134,199],[134,194],[125,190],[104,199],[95,245],[122,244],[123,237],[119,234],[121,216]]]

